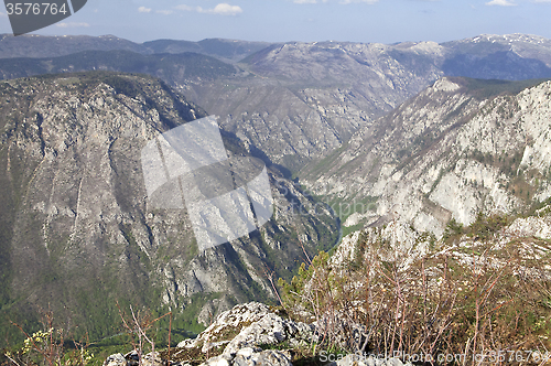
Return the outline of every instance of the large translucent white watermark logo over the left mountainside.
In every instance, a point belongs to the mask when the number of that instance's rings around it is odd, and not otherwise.
[[[153,208],[186,208],[199,250],[240,238],[273,214],[268,171],[253,158],[228,158],[215,117],[148,142],[143,179]]]

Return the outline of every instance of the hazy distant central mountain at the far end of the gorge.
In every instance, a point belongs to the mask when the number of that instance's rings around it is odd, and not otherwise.
[[[393,49],[333,42],[273,45],[239,64],[248,74],[190,83],[182,90],[210,114],[227,116],[226,129],[298,171],[437,78],[428,56],[432,49],[407,51],[426,61],[415,67],[395,58]]]

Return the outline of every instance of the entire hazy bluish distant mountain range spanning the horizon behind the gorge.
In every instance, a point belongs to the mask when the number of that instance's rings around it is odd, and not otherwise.
[[[525,34],[391,45],[231,40],[134,44],[116,37],[35,36],[17,43],[4,36],[0,45],[7,50],[0,53],[3,57],[41,56],[1,60],[4,78],[86,69],[161,77],[208,114],[220,116],[227,131],[264,151],[289,174],[326,157],[442,76],[551,77],[551,41]],[[54,45],[56,57],[46,52]],[[83,50],[108,51],[74,53]],[[184,53],[190,51],[203,56]],[[60,56],[66,53],[72,54]]]

